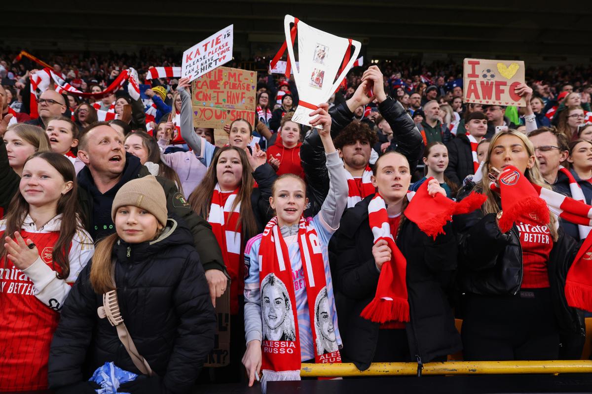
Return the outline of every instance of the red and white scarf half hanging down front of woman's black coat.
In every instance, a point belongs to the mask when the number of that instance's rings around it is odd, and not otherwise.
[[[380,193],[368,204],[368,222],[374,235],[374,244],[379,240],[387,241],[391,249],[391,261],[382,264],[374,299],[366,305],[360,316],[375,323],[409,321],[407,260],[392,238],[387,206]]]

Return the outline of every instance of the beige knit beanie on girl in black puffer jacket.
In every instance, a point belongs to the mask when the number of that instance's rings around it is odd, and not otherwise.
[[[115,194],[111,206],[111,219],[113,222],[115,222],[117,209],[127,205],[149,211],[160,224],[166,226],[168,211],[166,210],[165,191],[153,175],[134,179],[120,188]]]

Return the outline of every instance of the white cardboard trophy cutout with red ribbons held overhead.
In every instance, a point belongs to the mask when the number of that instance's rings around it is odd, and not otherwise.
[[[298,99],[301,102],[310,103],[317,106],[320,103],[326,103],[333,95],[337,86],[345,78],[353,63],[358,58],[362,46],[359,41],[352,40],[353,53],[350,55],[349,62],[342,70],[337,80],[334,78],[343,63],[343,56],[349,47],[348,38],[337,37],[336,35],[318,30],[298,21],[298,63],[294,58],[294,48],[291,45],[290,24],[295,19],[292,15],[284,17],[284,30],[286,34],[286,43],[288,43],[288,56],[292,63],[294,80],[298,89]],[[294,66],[296,65],[296,66]],[[301,125],[310,126],[310,121],[314,117],[309,116],[314,109],[298,105],[292,116],[292,121]],[[321,128],[321,126],[317,126]]]

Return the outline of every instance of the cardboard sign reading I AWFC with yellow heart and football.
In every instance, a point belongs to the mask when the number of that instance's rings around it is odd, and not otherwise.
[[[515,92],[525,82],[523,61],[465,58],[463,73],[465,103],[526,106]]]

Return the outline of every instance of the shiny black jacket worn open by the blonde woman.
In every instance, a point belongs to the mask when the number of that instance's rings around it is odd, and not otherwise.
[[[477,190],[478,191],[478,190]],[[468,195],[465,189],[458,199]],[[523,278],[522,246],[516,224],[507,233],[497,226],[496,214],[481,210],[453,218],[459,235],[458,285],[462,292],[483,295],[514,295]],[[580,245],[562,227],[549,254],[547,268],[553,297],[552,308],[562,337],[585,336],[583,312],[567,305],[565,278]]]

